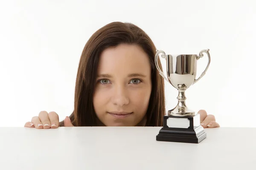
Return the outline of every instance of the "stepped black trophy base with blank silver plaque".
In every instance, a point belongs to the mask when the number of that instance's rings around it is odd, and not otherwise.
[[[200,115],[164,116],[163,127],[156,136],[157,141],[199,143],[207,133],[200,125]]]

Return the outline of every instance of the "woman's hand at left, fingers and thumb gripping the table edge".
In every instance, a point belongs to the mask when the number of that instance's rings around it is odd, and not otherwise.
[[[64,119],[64,126],[73,126],[68,116]],[[59,117],[54,111],[47,113],[47,111],[41,111],[38,116],[34,116],[31,122],[26,122],[24,127],[35,127],[37,129],[49,129],[59,127]]]

